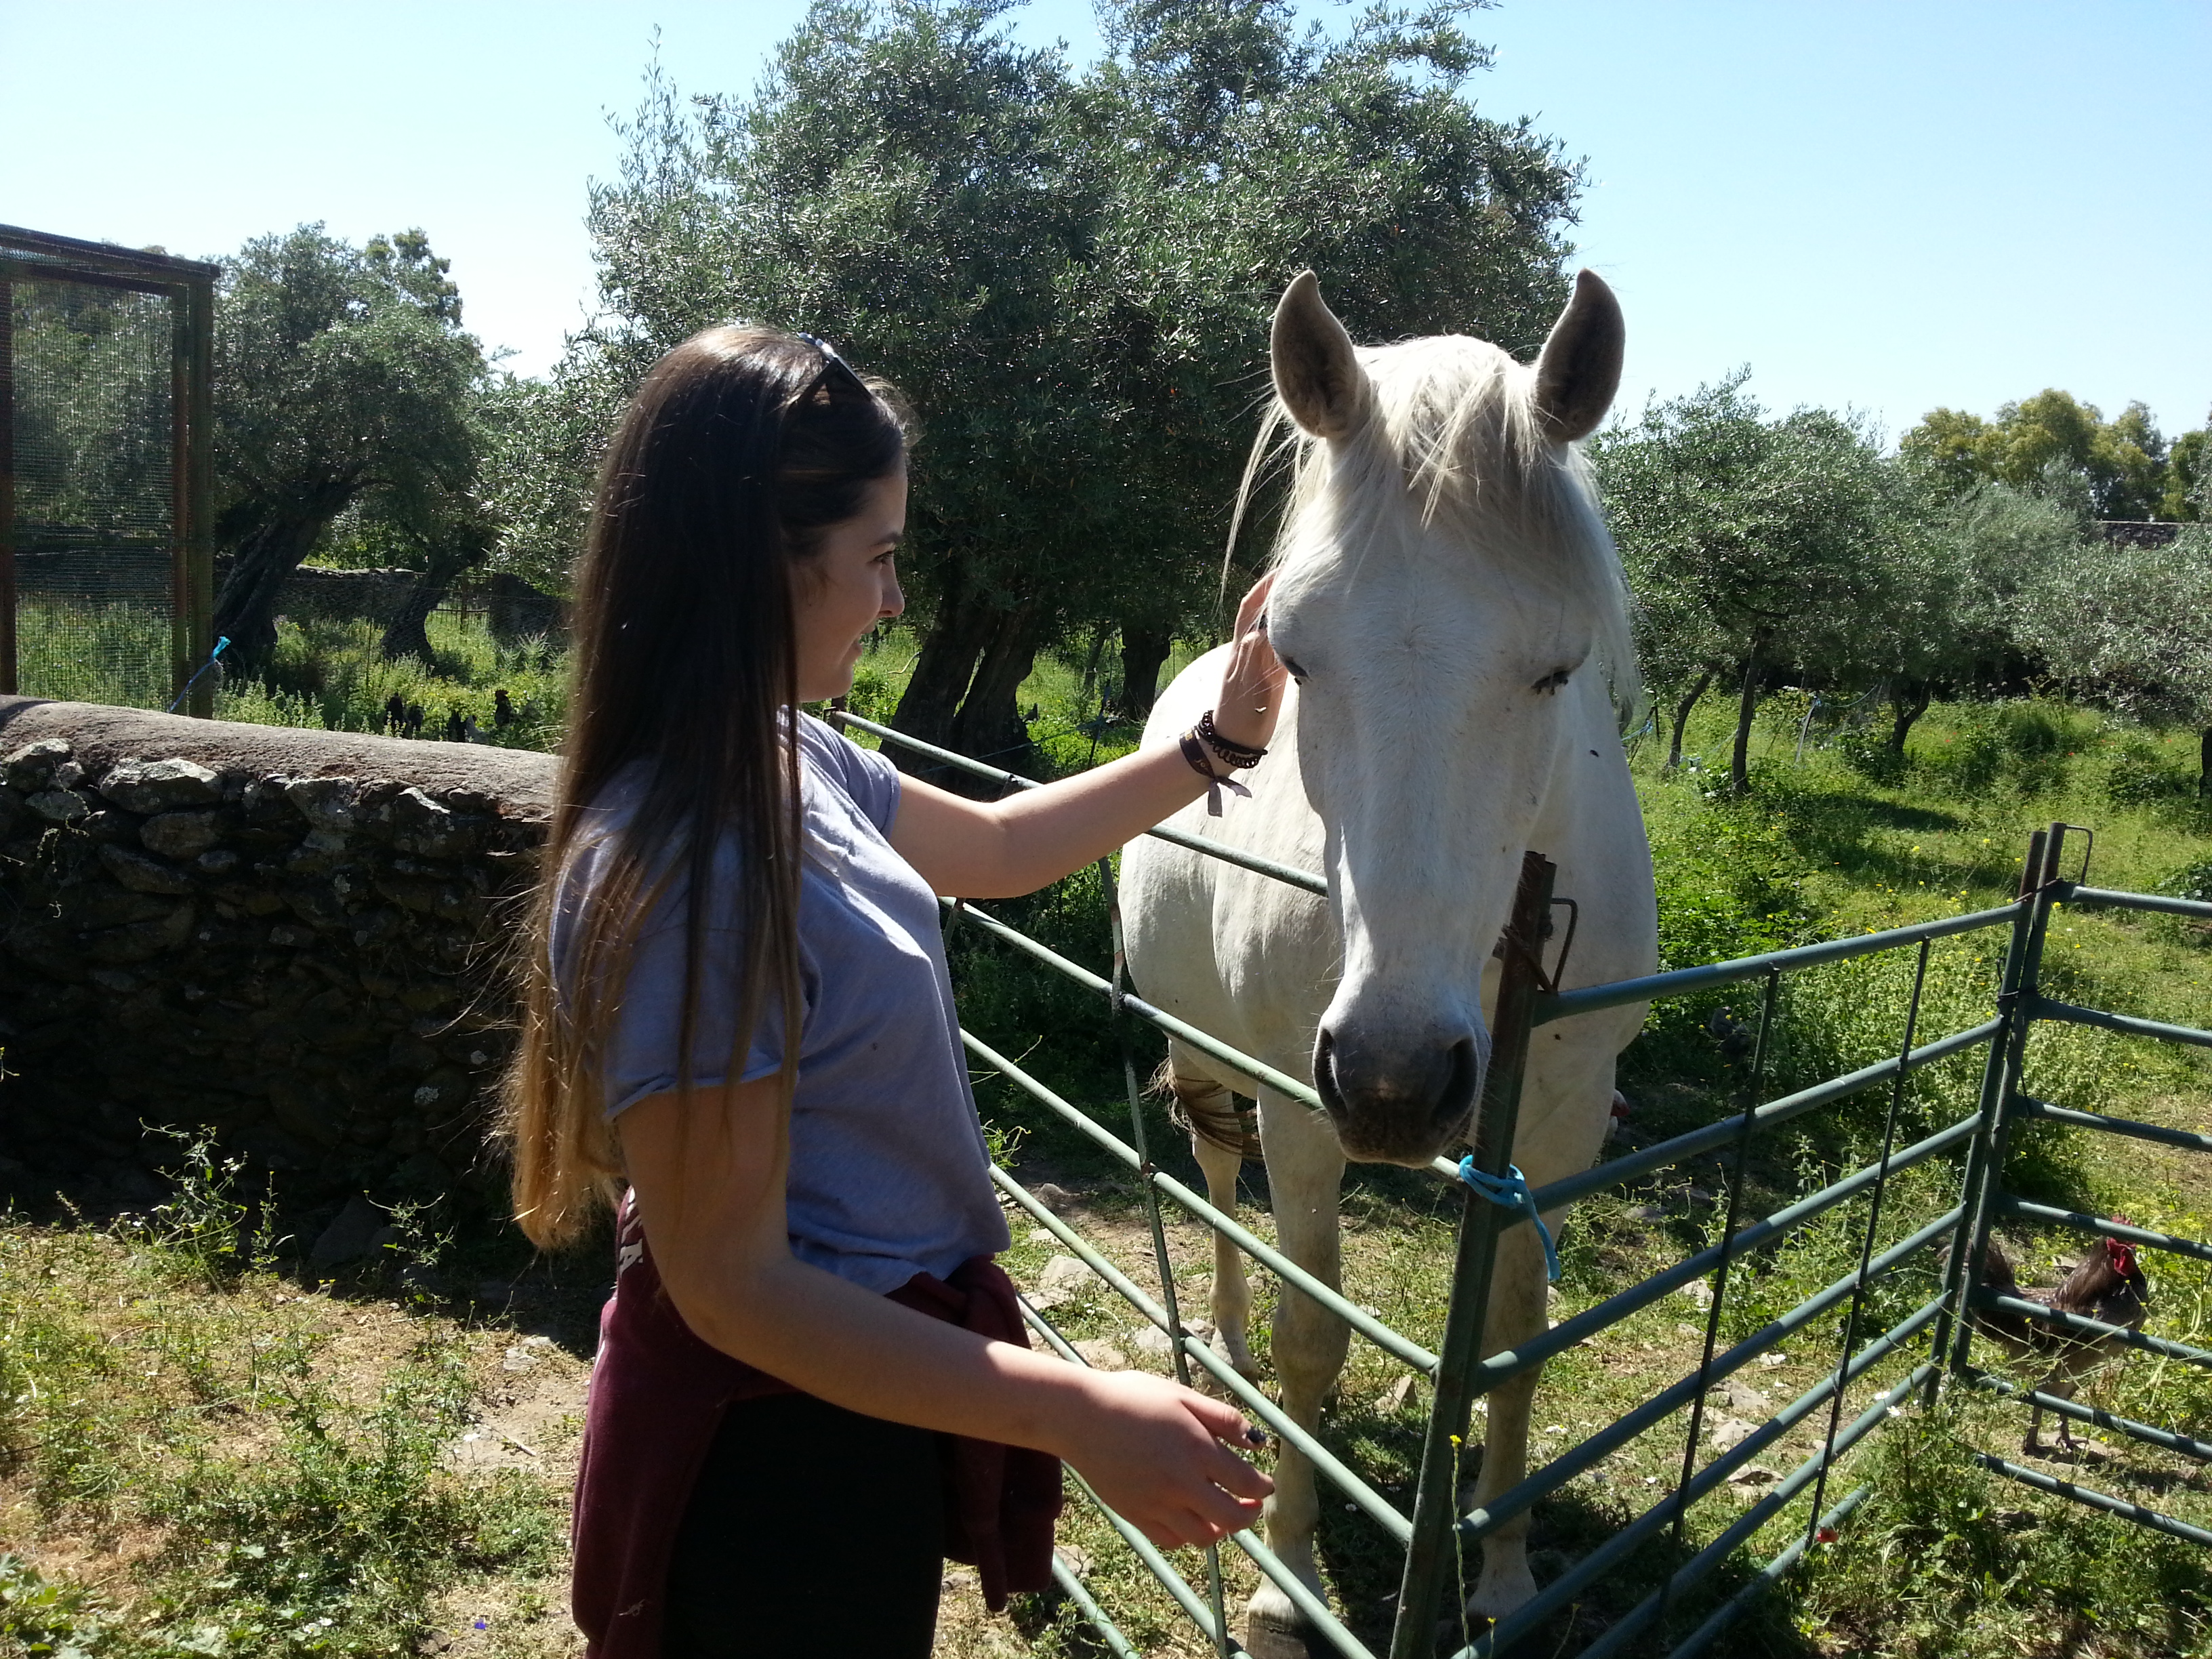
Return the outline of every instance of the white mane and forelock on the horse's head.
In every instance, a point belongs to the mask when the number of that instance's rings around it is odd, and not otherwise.
[[[1535,369],[1464,334],[1360,347],[1358,358],[1376,400],[1367,427],[1338,445],[1336,460],[1352,465],[1327,465],[1327,445],[1270,398],[1237,491],[1230,553],[1254,484],[1285,456],[1290,498],[1272,566],[1296,555],[1301,522],[1323,502],[1343,538],[1367,540],[1405,522],[1411,493],[1422,524],[1562,584],[1586,604],[1595,655],[1626,717],[1641,699],[1628,582],[1579,449],[1548,442],[1537,429]]]

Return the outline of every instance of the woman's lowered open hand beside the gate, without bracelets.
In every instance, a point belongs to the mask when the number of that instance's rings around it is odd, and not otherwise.
[[[1259,1520],[1274,1482],[1228,1449],[1248,1444],[1241,1411],[1141,1371],[1088,1371],[1084,1383],[1093,1409],[1060,1455],[1130,1526],[1177,1548]]]

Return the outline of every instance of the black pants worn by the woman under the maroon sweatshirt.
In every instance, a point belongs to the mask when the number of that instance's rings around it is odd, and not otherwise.
[[[938,1440],[807,1394],[730,1407],[668,1568],[666,1659],[929,1659]]]

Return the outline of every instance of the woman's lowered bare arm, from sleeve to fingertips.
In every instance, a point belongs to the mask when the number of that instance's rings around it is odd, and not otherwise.
[[[1155,1544],[1250,1526],[1272,1482],[1228,1405],[916,1314],[792,1256],[779,1079],[650,1095],[615,1119],[661,1283],[706,1343],[891,1422],[1051,1451]]]

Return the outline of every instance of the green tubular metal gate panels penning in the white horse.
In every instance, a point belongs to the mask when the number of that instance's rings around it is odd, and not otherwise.
[[[843,712],[836,714],[836,719],[856,730],[865,730],[885,743],[925,754],[938,765],[953,768],[978,779],[989,779],[1004,787],[1035,787],[1031,779],[920,743],[874,721]],[[1325,883],[1310,872],[1230,852],[1170,830],[1155,830],[1152,834],[1172,841],[1175,845],[1190,847],[1194,852],[1223,858],[1225,863],[1290,883],[1310,894],[1327,891]],[[2039,987],[2044,940],[2048,933],[2051,911],[2062,902],[2079,907],[2163,911],[2172,916],[2212,920],[2212,905],[2205,902],[2148,894],[2117,894],[2088,887],[2081,880],[2062,878],[2059,856],[2068,834],[2075,834],[2070,825],[2053,825],[2051,830],[2035,832],[2022,869],[2020,896],[1995,909],[1577,991],[1559,991],[1546,978],[1544,956],[1546,940],[1551,938],[1548,918],[1553,905],[1566,902],[1566,898],[1555,896],[1551,889],[1551,863],[1540,854],[1528,854],[1513,905],[1513,918],[1500,940],[1504,973],[1495,1018],[1491,1022],[1491,1071],[1478,1119],[1478,1139],[1471,1152],[1473,1170],[1491,1177],[1504,1177],[1513,1161],[1513,1126],[1520,1110],[1522,1071],[1533,1031],[1555,1020],[1566,1020],[1595,1009],[1683,998],[1725,984],[1756,984],[1761,993],[1761,1011],[1756,1029],[1752,1031],[1743,1106],[1728,1119],[1694,1128],[1657,1146],[1608,1159],[1590,1170],[1537,1188],[1528,1210],[1502,1208],[1500,1203],[1478,1197],[1473,1186],[1462,1183],[1460,1166],[1447,1159],[1436,1159],[1436,1175],[1453,1183],[1453,1188],[1462,1194],[1462,1208],[1458,1221],[1458,1256],[1453,1263],[1451,1303],[1444,1316],[1440,1352],[1433,1354],[1400,1332],[1394,1332],[1374,1312],[1354,1305],[1338,1290],[1318,1283],[1312,1274],[1254,1237],[1234,1217],[1221,1214],[1203,1194],[1190,1190],[1152,1164],[1146,1146],[1137,1066],[1128,1042],[1133,1026],[1150,1026],[1188,1042],[1190,1046],[1254,1077],[1267,1088],[1274,1088],[1316,1110],[1321,1102],[1307,1084],[1285,1077],[1250,1055],[1237,1053],[1217,1037],[1150,1006],[1124,987],[1119,914],[1113,909],[1113,874],[1104,860],[1102,874],[1106,878],[1108,909],[1115,916],[1115,967],[1110,975],[1099,975],[1077,962],[1071,962],[1051,947],[1026,938],[1018,929],[973,905],[947,900],[947,927],[978,927],[991,938],[1026,953],[1042,967],[1097,993],[1106,1004],[1115,1029],[1121,1033],[1121,1062],[1128,1093],[1126,1137],[1097,1121],[1073,1102],[1064,1099],[1060,1093],[1024,1071],[1015,1060],[975,1035],[962,1033],[962,1040],[982,1064],[998,1071],[1013,1086],[1044,1104],[1051,1113],[1077,1128],[1130,1170],[1146,1203],[1157,1287],[1139,1285],[1121,1272],[1121,1267],[1108,1261],[1106,1254],[1062,1221],[1048,1206],[1040,1203],[1004,1170],[993,1170],[993,1181],[998,1181],[1013,1206],[1026,1212],[1073,1256],[1086,1263],[1148,1325],[1166,1336],[1177,1378],[1190,1383],[1199,1371],[1203,1371],[1223,1394],[1234,1398],[1245,1411],[1265,1422],[1267,1429],[1285,1442],[1303,1451],[1312,1460],[1316,1475],[1325,1484],[1334,1486],[1349,1509],[1360,1511],[1396,1548],[1405,1553],[1405,1573],[1396,1597],[1389,1644],[1378,1652],[1354,1635],[1325,1601],[1321,1601],[1298,1577],[1294,1577],[1256,1535],[1237,1533],[1230,1537],[1230,1544],[1243,1551],[1256,1571],[1279,1584],[1292,1604],[1312,1619],[1318,1637],[1334,1652],[1345,1655],[1347,1659],[1383,1659],[1383,1652],[1387,1652],[1387,1659],[1431,1659],[1431,1655],[1440,1650],[1438,1615],[1442,1613],[1447,1573],[1467,1546],[1480,1544],[1484,1535],[1528,1513],[1542,1498],[1595,1469],[1599,1462],[1621,1451],[1639,1436],[1663,1425],[1668,1418],[1688,1411],[1679,1478],[1672,1489],[1659,1493],[1657,1502],[1652,1502],[1641,1515],[1615,1531],[1579,1562],[1566,1566],[1566,1571],[1553,1577],[1553,1582],[1546,1584],[1533,1601],[1498,1621],[1493,1628],[1471,1635],[1471,1639],[1460,1646],[1455,1655],[1455,1659],[1489,1659],[1491,1655],[1509,1650],[1513,1644],[1540,1630],[1555,1615],[1573,1608],[1595,1584],[1619,1571],[1644,1544],[1672,1535],[1674,1544],[1686,1555],[1681,1566],[1677,1566],[1657,1590],[1628,1608],[1621,1617],[1613,1619],[1608,1628],[1604,1628],[1577,1652],[1582,1659],[1604,1659],[1606,1655],[1624,1652],[1668,1652],[1670,1659],[1683,1659],[1686,1655],[1703,1650],[1714,1637],[1719,1637],[1721,1630],[1741,1617],[1756,1597],[1790,1573],[1790,1568],[1796,1566],[1816,1542],[1836,1537],[1836,1528],[1840,1528],[1869,1495],[1869,1486],[1860,1484],[1832,1500],[1829,1480],[1843,1455],[1869,1440],[1869,1436],[1882,1431],[1905,1411],[1931,1405],[1938,1389],[1947,1380],[1955,1378],[1975,1389],[2015,1398],[2024,1405],[2039,1405],[2046,1411],[2057,1411],[2064,1418],[2097,1425],[2161,1451],[2212,1460],[2212,1444],[2208,1442],[2170,1429],[2117,1418],[2070,1400],[2026,1391],[1973,1365],[1971,1312],[1975,1307],[1991,1307],[2059,1325],[2086,1336],[2110,1336],[2128,1347],[2161,1354],[2190,1365],[2212,1367],[2212,1354],[2203,1349],[2137,1332],[2124,1332],[2088,1318],[2057,1314],[2042,1303],[1993,1296],[1971,1283],[1966,1272],[1969,1261],[1980,1261],[1980,1245],[1986,1241],[1991,1225],[2000,1217],[2053,1228],[2075,1228],[2090,1234],[2112,1234],[2143,1248],[2212,1261],[2212,1245],[2203,1241],[2177,1239],[2146,1228],[2132,1228],[2108,1217],[2028,1203],[2026,1199],[2006,1192],[2002,1186],[2006,1139],[2011,1126],[2022,1117],[2042,1117],[2075,1128],[2128,1135],[2190,1150],[2212,1150],[2212,1137],[2208,1135],[2170,1130],[2154,1124],[2135,1124],[2128,1119],[2031,1099],[2020,1093],[2022,1060],[2031,1029],[2039,1020],[2090,1024],[2159,1042],[2212,1046],[2212,1033],[2208,1031],[2081,1009],[2044,995]],[[1978,931],[1991,931],[1993,938],[2004,940],[1995,1006],[1986,1020],[1929,1040],[1920,1033],[1929,947],[1944,938]],[[1916,969],[1911,998],[1893,1055],[1807,1088],[1798,1088],[1778,1099],[1763,1099],[1763,1079],[1776,1031],[1776,1000],[1783,978],[1787,973],[1832,962],[1907,949],[1916,951]],[[1907,1146],[1898,1146],[1900,1106],[1907,1097],[1907,1079],[1924,1066],[1973,1048],[1986,1051],[1978,1106],[1960,1115],[1955,1121],[1922,1135]],[[1747,1157],[1761,1133],[1778,1128],[1792,1119],[1803,1119],[1805,1115],[1834,1106],[1845,1097],[1882,1086],[1887,1086],[1889,1102],[1882,1126],[1880,1157],[1874,1164],[1851,1170],[1843,1179],[1829,1181],[1827,1186],[1820,1186],[1772,1214],[1756,1219],[1745,1214]],[[1528,1212],[1562,1208],[1577,1199],[1621,1188],[1646,1179],[1652,1172],[1679,1168],[1692,1159],[1705,1159],[1712,1155],[1728,1161],[1723,1214],[1717,1243],[1677,1261],[1659,1274],[1626,1285],[1613,1296],[1599,1301],[1595,1307],[1555,1323],[1548,1332],[1524,1347],[1478,1356],[1482,1310],[1489,1301],[1495,1243],[1506,1228],[1524,1225]],[[1964,1168],[1958,1188],[1958,1203],[1949,1206],[1942,1214],[1911,1230],[1896,1243],[1876,1250],[1878,1225],[1885,1199],[1889,1197],[1891,1177],[1929,1164],[1931,1159],[1962,1159]],[[1854,1199],[1867,1201],[1867,1214],[1858,1228],[1856,1267],[1767,1321],[1750,1336],[1723,1345],[1721,1327],[1723,1310],[1728,1307],[1730,1267],[1741,1265],[1750,1252],[1776,1245],[1794,1230],[1805,1228],[1818,1217],[1829,1214],[1838,1206]],[[1245,1256],[1276,1274],[1283,1285],[1310,1296],[1314,1303],[1343,1318],[1354,1334],[1431,1385],[1433,1402],[1427,1418],[1411,1513],[1394,1506],[1369,1478],[1349,1467],[1316,1436],[1305,1433],[1261,1389],[1245,1383],[1245,1378],[1230,1369],[1230,1365],[1223,1363],[1206,1340],[1186,1327],[1177,1301],[1175,1270],[1168,1259],[1166,1232],[1161,1225],[1161,1201],[1179,1208],[1190,1219],[1228,1239]],[[1960,1237],[1964,1237],[1973,1248],[1949,1250],[1947,1279],[1936,1296],[1929,1296],[1909,1314],[1893,1321],[1889,1329],[1865,1329],[1871,1287],[1876,1287],[1885,1276],[1896,1274],[1907,1263],[1920,1259],[1929,1248],[1955,1243]],[[1621,1413],[1597,1433],[1564,1447],[1548,1462],[1533,1469],[1517,1486],[1502,1493],[1484,1509],[1460,1513],[1460,1447],[1464,1444],[1478,1396],[1495,1389],[1513,1376],[1544,1365],[1559,1354],[1566,1354],[1571,1347],[1599,1336],[1601,1332],[1619,1325],[1641,1310],[1652,1307],[1679,1290],[1692,1287],[1697,1281],[1705,1281],[1710,1285],[1710,1296],[1703,1303],[1705,1323],[1701,1358],[1690,1374],[1681,1376],[1670,1387],[1659,1389],[1639,1407]],[[1055,1329],[1053,1321],[1044,1312],[1024,1305],[1024,1318],[1031,1329],[1057,1354],[1077,1365],[1084,1363],[1075,1345],[1068,1343],[1060,1329]],[[1814,1325],[1825,1318],[1836,1318],[1838,1323],[1836,1354],[1825,1378],[1787,1405],[1767,1413],[1745,1438],[1701,1462],[1699,1447],[1710,1389],[1756,1363],[1761,1354],[1776,1349],[1783,1340],[1801,1336],[1809,1340]],[[1874,1394],[1874,1398],[1867,1400],[1856,1416],[1845,1420],[1843,1409],[1851,1385],[1869,1378],[1869,1374],[1885,1363],[1889,1363],[1889,1369],[1902,1367],[1902,1374]],[[1683,1537],[1686,1517],[1692,1506],[1721,1493],[1730,1482],[1730,1475],[1743,1471],[1763,1451],[1774,1449],[1776,1442],[1801,1422],[1820,1425],[1818,1449],[1798,1460],[1794,1469],[1774,1482],[1772,1491],[1747,1504],[1730,1520],[1728,1526],[1719,1528],[1710,1542],[1690,1553],[1688,1546],[1683,1546]],[[2212,1533],[2128,1500],[2055,1480],[2004,1458],[1982,1453],[1978,1460],[2008,1480],[2124,1515],[2174,1537],[2212,1546]],[[1075,1480],[1093,1504],[1099,1504],[1097,1495],[1091,1493],[1091,1489],[1075,1478],[1073,1471],[1071,1480]],[[1796,1528],[1794,1542],[1781,1548],[1772,1559],[1750,1571],[1747,1582],[1734,1595],[1714,1606],[1697,1628],[1668,1646],[1663,1635],[1668,1613],[1681,1604],[1686,1593],[1730,1564],[1736,1551],[1750,1542],[1754,1533],[1796,1504],[1803,1504],[1803,1526]],[[1104,1504],[1099,1504],[1099,1509],[1128,1548],[1135,1551],[1144,1566],[1159,1579],[1161,1586],[1166,1586],[1168,1595],[1175,1597],[1214,1652],[1223,1655],[1223,1659],[1228,1659],[1228,1655],[1243,1652],[1234,1637],[1228,1608],[1223,1606],[1219,1555],[1208,1551],[1206,1582],[1190,1584],[1157,1548],[1144,1540],[1141,1533],[1106,1511]],[[1079,1615],[1097,1630],[1106,1648],[1121,1657],[1137,1655],[1133,1641],[1099,1606],[1082,1577],[1066,1562],[1055,1562],[1053,1571],[1060,1588]],[[1566,1648],[1562,1648],[1562,1652]]]

